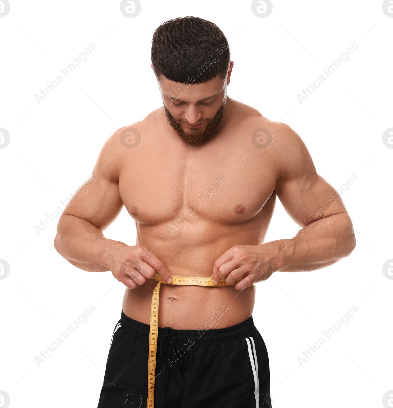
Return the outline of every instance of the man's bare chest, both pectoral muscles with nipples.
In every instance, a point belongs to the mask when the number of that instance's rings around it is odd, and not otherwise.
[[[186,155],[149,149],[124,162],[119,191],[128,213],[142,225],[193,214],[193,220],[236,224],[260,213],[276,180],[272,158],[248,147]]]

